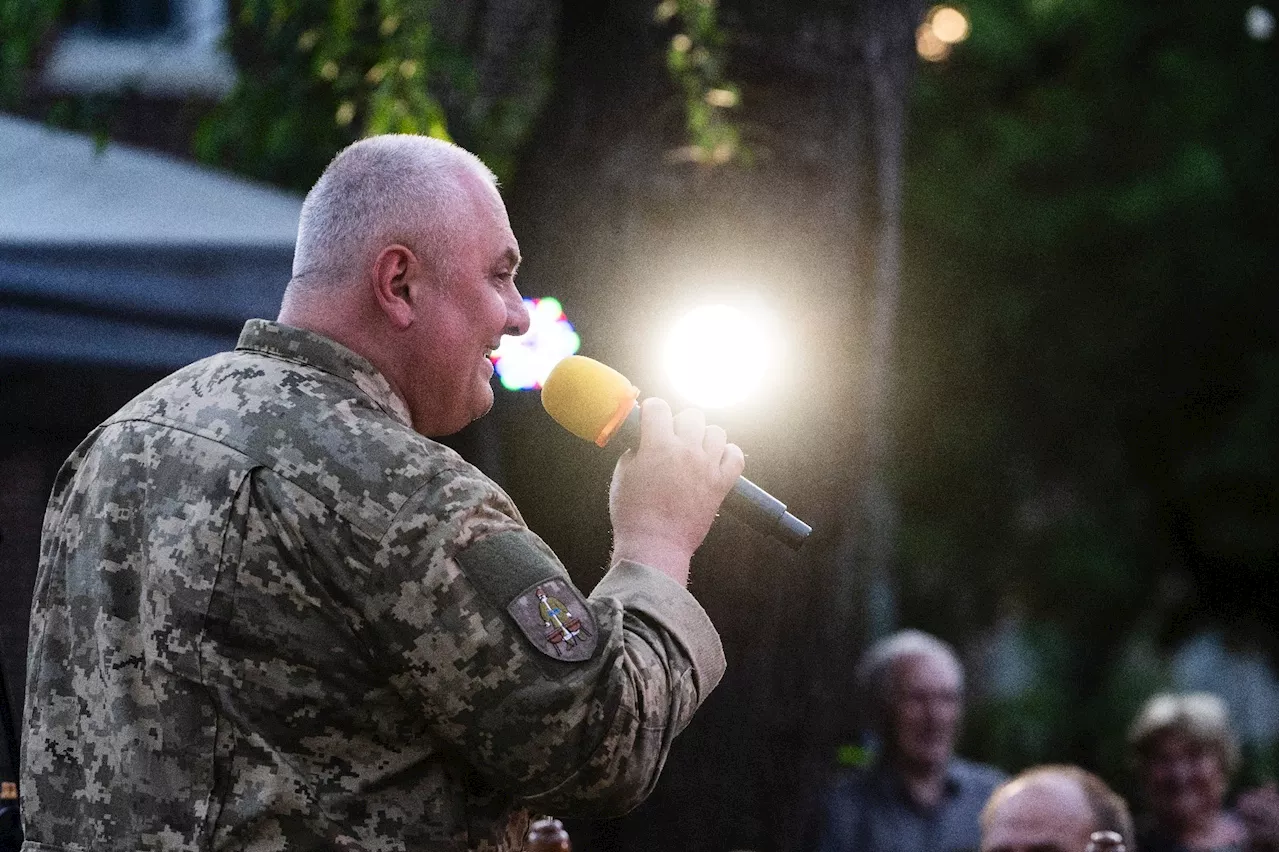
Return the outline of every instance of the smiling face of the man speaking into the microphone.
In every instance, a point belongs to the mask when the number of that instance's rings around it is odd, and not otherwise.
[[[516,289],[520,247],[497,189],[468,175],[472,205],[462,224],[452,267],[428,270],[416,345],[421,370],[413,375],[410,409],[426,435],[448,435],[493,406],[489,353],[507,329],[524,334],[529,312]]]

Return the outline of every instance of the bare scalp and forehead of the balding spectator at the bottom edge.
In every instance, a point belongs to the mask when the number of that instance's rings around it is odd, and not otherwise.
[[[1015,782],[982,830],[982,852],[1084,852],[1094,830],[1080,785],[1046,775]]]

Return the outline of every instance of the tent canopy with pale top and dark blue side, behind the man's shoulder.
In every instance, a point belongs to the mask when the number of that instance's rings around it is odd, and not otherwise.
[[[274,316],[301,198],[0,115],[0,361],[168,368]]]

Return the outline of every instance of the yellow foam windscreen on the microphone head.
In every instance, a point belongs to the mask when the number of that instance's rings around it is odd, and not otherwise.
[[[579,438],[604,446],[635,406],[640,389],[613,367],[570,356],[543,383],[543,408]]]

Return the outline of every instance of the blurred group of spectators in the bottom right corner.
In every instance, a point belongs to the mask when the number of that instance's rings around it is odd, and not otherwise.
[[[954,649],[906,629],[859,665],[865,760],[828,784],[795,848],[1102,852],[1098,832],[1144,852],[1280,848],[1280,787],[1228,793],[1239,738],[1208,692],[1152,696],[1129,725],[1138,819],[1097,774],[1048,762],[1014,779],[955,753],[964,669]],[[1234,797],[1233,797],[1234,798]]]

